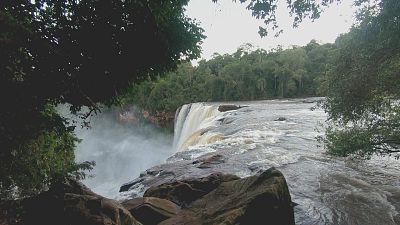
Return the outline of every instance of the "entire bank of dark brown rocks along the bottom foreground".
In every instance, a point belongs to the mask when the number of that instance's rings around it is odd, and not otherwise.
[[[242,179],[214,173],[164,183],[122,203],[67,179],[0,210],[1,225],[294,224],[285,178],[274,168]]]

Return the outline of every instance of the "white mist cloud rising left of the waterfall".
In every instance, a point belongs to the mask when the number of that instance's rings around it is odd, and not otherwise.
[[[75,130],[82,140],[76,148],[76,161],[96,162],[89,173],[92,176],[83,183],[108,198],[115,198],[123,183],[174,153],[172,133],[151,124],[121,123],[117,117],[117,110],[108,110],[90,118],[91,128]]]

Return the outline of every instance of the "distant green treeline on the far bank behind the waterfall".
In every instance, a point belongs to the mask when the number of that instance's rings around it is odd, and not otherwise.
[[[233,54],[214,54],[198,66],[184,63],[159,79],[133,85],[122,102],[154,112],[199,101],[322,96],[335,49],[334,44],[315,40],[304,47],[270,51],[246,44]]]

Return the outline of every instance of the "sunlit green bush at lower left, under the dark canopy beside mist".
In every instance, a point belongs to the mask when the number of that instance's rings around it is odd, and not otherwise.
[[[66,174],[83,178],[94,162],[74,163],[76,138],[70,133],[49,132],[12,149],[2,151],[0,196],[2,199],[25,197],[47,188]]]

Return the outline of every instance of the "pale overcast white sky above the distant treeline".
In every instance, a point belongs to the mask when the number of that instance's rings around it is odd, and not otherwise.
[[[210,59],[214,52],[233,53],[244,43],[271,49],[278,45],[284,48],[291,45],[303,46],[312,39],[320,43],[334,42],[339,34],[347,32],[353,24],[355,9],[352,2],[343,0],[340,5],[331,5],[320,19],[304,21],[298,28],[291,28],[293,19],[289,17],[286,6],[280,5],[277,19],[284,33],[277,38],[273,35],[261,38],[258,27],[263,25],[263,21],[253,18],[245,5],[233,3],[232,0],[219,0],[217,4],[211,0],[191,0],[186,14],[198,20],[205,29],[207,38],[202,45],[202,58]]]

